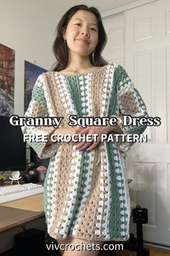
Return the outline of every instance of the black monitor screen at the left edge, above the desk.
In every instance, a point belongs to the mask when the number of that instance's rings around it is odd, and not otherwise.
[[[0,171],[21,171],[26,167],[26,142],[20,126],[13,126],[9,116],[0,116]]]

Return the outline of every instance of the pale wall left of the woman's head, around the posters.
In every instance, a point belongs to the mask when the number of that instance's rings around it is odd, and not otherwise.
[[[50,69],[58,9],[47,0],[0,0],[0,43],[15,50],[14,114],[24,113],[24,60]]]

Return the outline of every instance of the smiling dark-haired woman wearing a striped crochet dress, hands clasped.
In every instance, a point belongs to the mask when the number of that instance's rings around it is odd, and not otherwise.
[[[79,5],[63,15],[53,45],[57,64],[41,74],[26,116],[63,116],[60,127],[27,127],[24,133],[48,135],[30,142],[49,158],[45,178],[45,216],[59,244],[99,244],[129,237],[130,200],[124,151],[128,142],[101,142],[102,134],[140,134],[146,127],[123,127],[122,115],[147,117],[146,106],[125,70],[107,64],[107,42],[99,12]],[[69,117],[116,116],[111,126],[68,125]],[[52,142],[51,135],[97,134],[96,142]],[[75,148],[76,147],[76,148]],[[64,255],[98,255],[97,250],[66,250]]]

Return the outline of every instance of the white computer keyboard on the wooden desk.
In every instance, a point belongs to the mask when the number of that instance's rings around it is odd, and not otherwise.
[[[44,187],[42,185],[34,183],[3,186],[0,187],[0,204],[41,194],[43,191]]]

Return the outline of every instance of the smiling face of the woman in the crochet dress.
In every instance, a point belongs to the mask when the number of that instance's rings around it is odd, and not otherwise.
[[[97,17],[92,12],[76,12],[68,22],[63,38],[66,39],[70,53],[89,56],[97,46]]]

